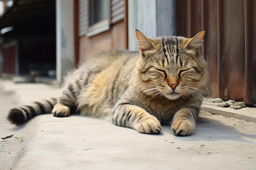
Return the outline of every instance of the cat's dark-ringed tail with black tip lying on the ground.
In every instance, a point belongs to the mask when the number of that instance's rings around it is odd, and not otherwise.
[[[31,118],[38,116],[39,114],[51,113],[52,108],[56,103],[57,98],[34,101],[33,103],[24,105],[23,107],[11,109],[7,119],[12,124],[19,126],[31,120]]]

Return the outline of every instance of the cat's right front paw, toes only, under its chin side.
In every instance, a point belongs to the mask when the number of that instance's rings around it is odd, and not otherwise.
[[[195,124],[188,120],[177,118],[172,123],[172,131],[174,131],[174,134],[177,136],[192,135],[194,133],[194,130]]]

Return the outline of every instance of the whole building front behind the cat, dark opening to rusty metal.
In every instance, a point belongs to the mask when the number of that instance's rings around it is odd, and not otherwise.
[[[26,1],[32,2],[22,2]],[[19,0],[14,2],[14,7],[22,6]],[[49,4],[47,0],[40,2]],[[205,30],[201,53],[208,62],[209,95],[256,103],[254,1],[56,0],[54,7],[56,27],[51,29],[56,29],[56,56],[51,63],[56,62],[59,82],[68,70],[94,53],[106,49],[138,50],[135,29],[149,38],[192,37]],[[8,13],[5,15],[7,18]],[[0,19],[0,29],[11,26],[6,24],[5,18]],[[44,26],[49,24],[45,23]],[[6,40],[6,36],[1,37]],[[17,46],[26,41],[13,40],[2,43],[1,70],[19,74],[22,58],[20,50],[17,53],[13,49],[20,49]],[[31,56],[31,53],[27,52],[27,55]]]

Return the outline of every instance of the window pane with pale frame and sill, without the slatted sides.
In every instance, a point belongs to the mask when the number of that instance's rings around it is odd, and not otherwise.
[[[89,27],[86,35],[94,36],[110,28],[110,1],[89,0]]]

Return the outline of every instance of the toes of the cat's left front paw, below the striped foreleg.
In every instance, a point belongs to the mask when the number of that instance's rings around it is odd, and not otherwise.
[[[161,129],[160,122],[155,117],[150,117],[139,122],[136,128],[140,133],[147,134],[159,134]]]

